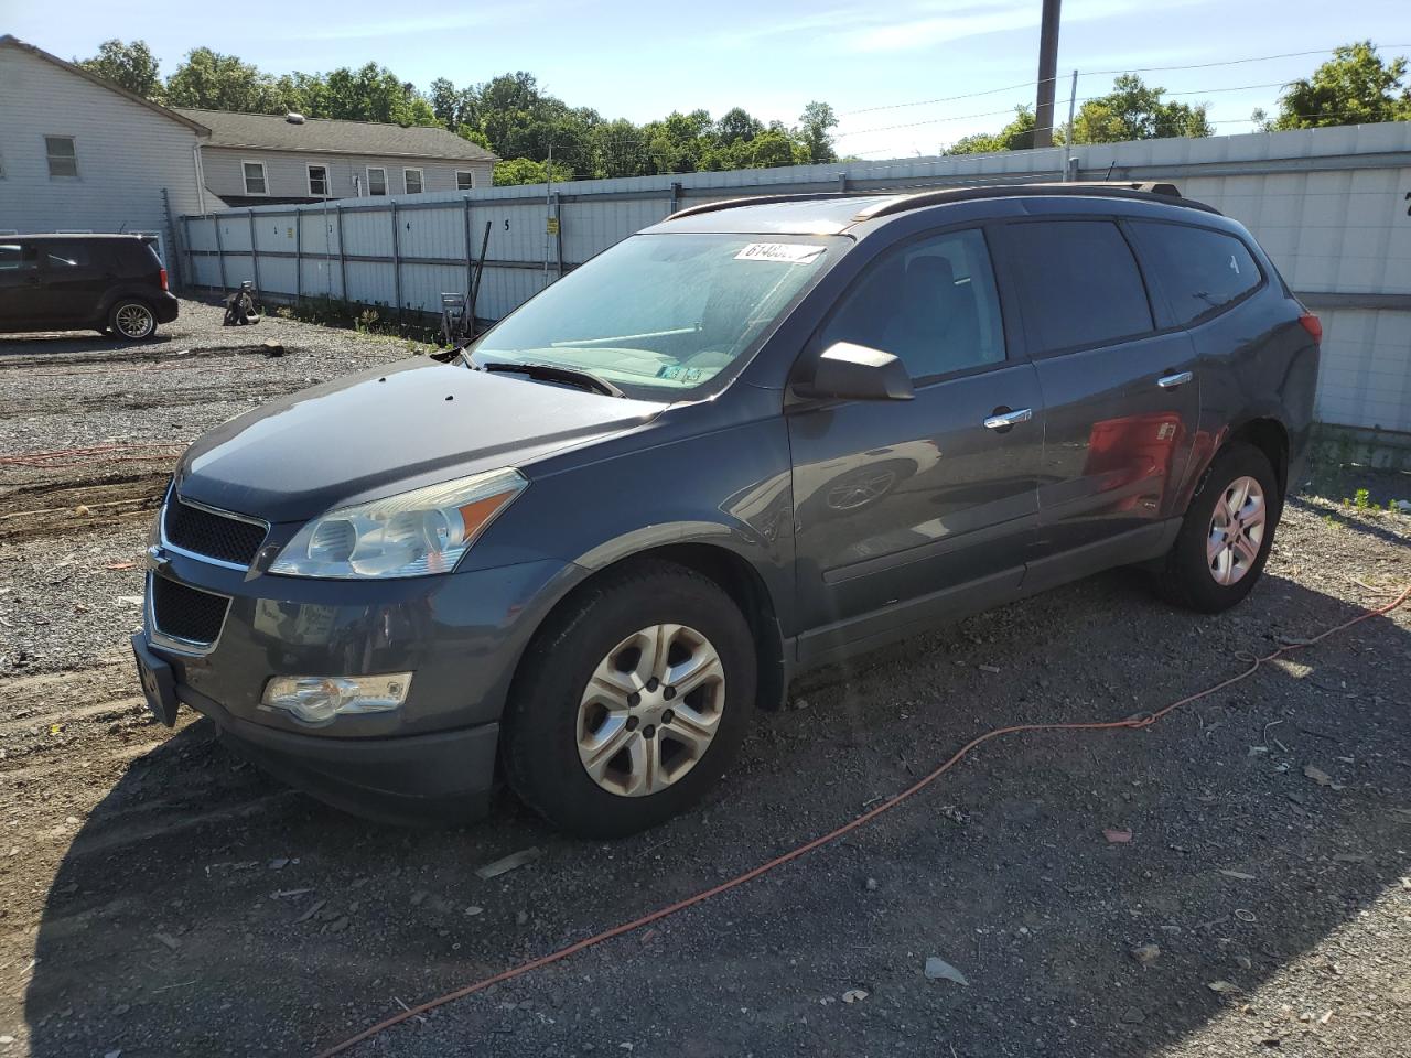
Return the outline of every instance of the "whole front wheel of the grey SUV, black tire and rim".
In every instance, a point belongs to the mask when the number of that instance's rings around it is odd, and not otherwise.
[[[662,626],[665,635],[653,632]],[[653,643],[669,647],[660,663],[641,649]],[[672,671],[700,683],[677,697],[665,680],[645,679]],[[521,662],[501,732],[509,787],[570,834],[655,827],[694,804],[734,759],[755,710],[755,674],[749,625],[714,581],[663,561],[610,574],[552,615]],[[639,691],[628,697],[629,686]]]

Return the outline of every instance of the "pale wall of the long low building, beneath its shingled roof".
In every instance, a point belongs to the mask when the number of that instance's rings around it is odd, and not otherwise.
[[[422,171],[422,190],[456,190],[456,174],[474,174],[476,188],[488,188],[494,182],[494,162],[476,161],[422,161],[415,158],[391,158],[377,155],[315,154],[293,151],[253,151],[230,147],[202,147],[202,164],[206,169],[206,186],[216,195],[240,196],[246,192],[246,161],[264,162],[265,186],[270,197],[291,199],[309,196],[309,165],[325,165],[332,186],[330,197],[353,197],[353,178],[357,176],[363,195],[367,196],[367,168],[381,166],[387,171],[387,188],[391,195],[405,192],[404,169]]]

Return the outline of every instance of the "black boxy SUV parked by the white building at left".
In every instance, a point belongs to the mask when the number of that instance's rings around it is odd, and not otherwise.
[[[0,236],[0,332],[150,339],[176,319],[166,269],[143,236]]]

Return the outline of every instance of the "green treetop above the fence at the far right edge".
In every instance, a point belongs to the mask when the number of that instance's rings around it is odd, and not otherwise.
[[[1386,62],[1371,41],[1335,48],[1311,78],[1284,86],[1267,130],[1411,121],[1411,90],[1403,85],[1405,58]],[[1263,114],[1256,117],[1259,121]]]

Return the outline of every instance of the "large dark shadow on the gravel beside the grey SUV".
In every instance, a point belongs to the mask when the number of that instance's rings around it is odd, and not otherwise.
[[[367,824],[198,721],[72,838],[35,941],[30,1052],[308,1054],[765,862],[988,728],[1151,710],[1239,671],[1236,650],[1359,612],[1277,576],[1216,618],[1096,577],[810,674],[704,805],[607,844],[509,797],[468,828]],[[1411,868],[1408,650],[1373,618],[1147,731],[986,745],[842,841],[356,1052],[1137,1055],[1246,1002],[1288,1021],[1270,1038],[1322,1031],[1260,987]],[[1134,958],[1147,944],[1160,954]],[[928,980],[928,956],[968,985]]]

